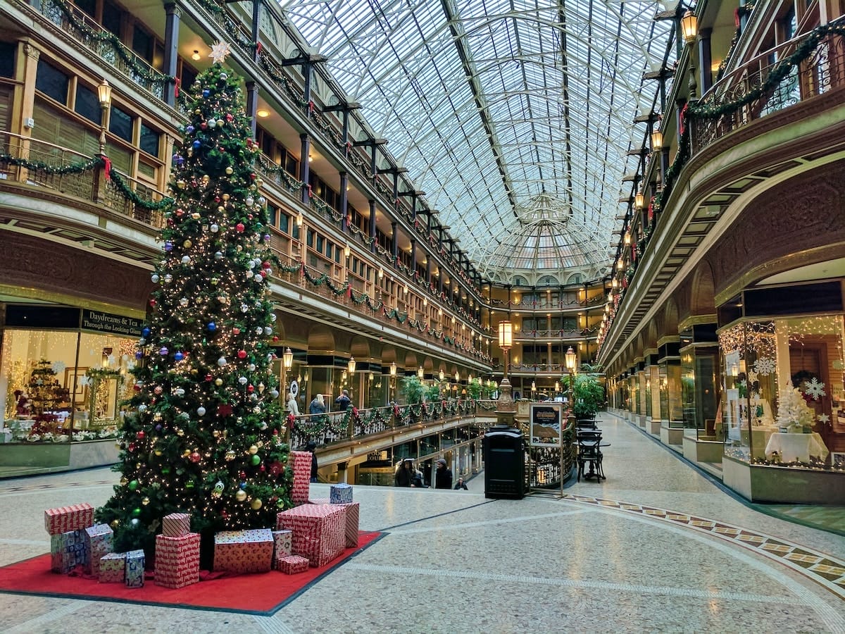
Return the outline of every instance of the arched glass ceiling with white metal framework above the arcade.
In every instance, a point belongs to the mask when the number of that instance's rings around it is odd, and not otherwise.
[[[483,276],[609,269],[677,3],[281,0]],[[630,166],[628,166],[630,167]],[[629,183],[630,184],[630,183]],[[624,194],[630,194],[629,191]]]

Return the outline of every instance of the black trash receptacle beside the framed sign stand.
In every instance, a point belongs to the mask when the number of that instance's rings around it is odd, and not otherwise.
[[[484,497],[524,498],[526,451],[521,429],[492,427],[484,435],[483,447]]]

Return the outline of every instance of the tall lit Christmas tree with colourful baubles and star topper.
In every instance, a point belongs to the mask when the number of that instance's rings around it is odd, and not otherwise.
[[[96,515],[114,529],[115,549],[150,556],[161,518],[188,512],[204,565],[216,531],[272,527],[293,506],[270,371],[270,236],[252,167],[259,148],[225,55],[215,45],[214,64],[197,77],[173,156],[174,202],[115,467],[123,478]]]

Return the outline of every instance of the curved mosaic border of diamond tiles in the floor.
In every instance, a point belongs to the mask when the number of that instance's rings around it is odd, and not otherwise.
[[[774,538],[765,533],[757,533],[748,528],[733,526],[727,522],[668,511],[654,506],[629,504],[618,500],[571,493],[564,494],[563,499],[612,511],[648,516],[675,526],[713,535],[745,549],[753,550],[771,560],[780,561],[784,566],[798,571],[804,577],[819,583],[845,600],[845,561],[837,560],[814,549],[793,544],[785,539]]]

